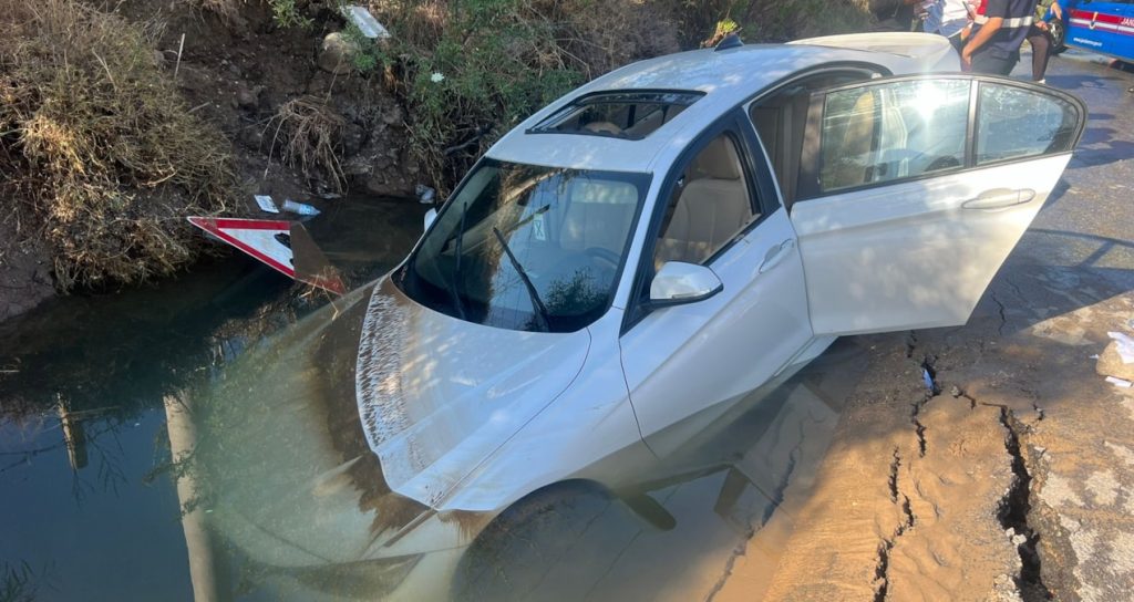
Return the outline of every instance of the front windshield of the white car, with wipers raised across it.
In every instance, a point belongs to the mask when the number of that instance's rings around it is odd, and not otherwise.
[[[650,177],[484,160],[397,279],[438,312],[570,332],[609,307]]]

